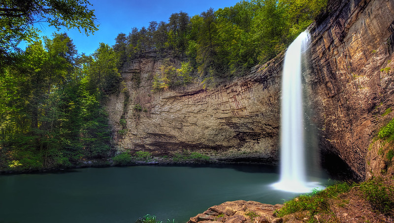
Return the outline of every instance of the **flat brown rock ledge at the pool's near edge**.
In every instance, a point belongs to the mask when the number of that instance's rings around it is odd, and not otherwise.
[[[282,223],[273,216],[282,204],[263,204],[256,201],[236,200],[208,208],[204,213],[190,218],[188,223]]]

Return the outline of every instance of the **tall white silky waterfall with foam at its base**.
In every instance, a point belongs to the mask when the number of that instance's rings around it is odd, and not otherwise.
[[[323,189],[307,182],[304,151],[301,62],[309,44],[309,33],[302,32],[286,51],[282,76],[280,181],[277,190],[309,193]]]

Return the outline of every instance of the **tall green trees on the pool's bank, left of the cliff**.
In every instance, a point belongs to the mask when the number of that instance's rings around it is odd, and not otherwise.
[[[78,58],[66,33],[33,42],[18,61],[0,75],[2,163],[35,169],[108,156],[105,91],[90,87],[95,61]]]

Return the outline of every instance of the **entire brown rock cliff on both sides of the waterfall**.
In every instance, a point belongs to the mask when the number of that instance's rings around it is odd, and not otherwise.
[[[328,9],[310,28],[303,79],[304,106],[312,112],[306,122],[317,133],[312,141],[322,162],[329,167],[342,160],[363,179],[368,145],[394,117],[382,115],[394,104],[394,2],[332,0]],[[277,164],[282,60],[279,55],[214,89],[196,83],[158,92],[152,80],[163,59],[150,53],[134,60],[122,73],[122,92],[107,104],[114,148],[157,156],[189,150]]]

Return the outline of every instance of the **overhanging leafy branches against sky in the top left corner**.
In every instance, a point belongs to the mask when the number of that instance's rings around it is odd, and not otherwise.
[[[21,41],[38,37],[35,23],[48,23],[60,28],[77,28],[86,35],[98,30],[94,10],[88,0],[1,0],[0,2],[0,62],[18,51]]]

